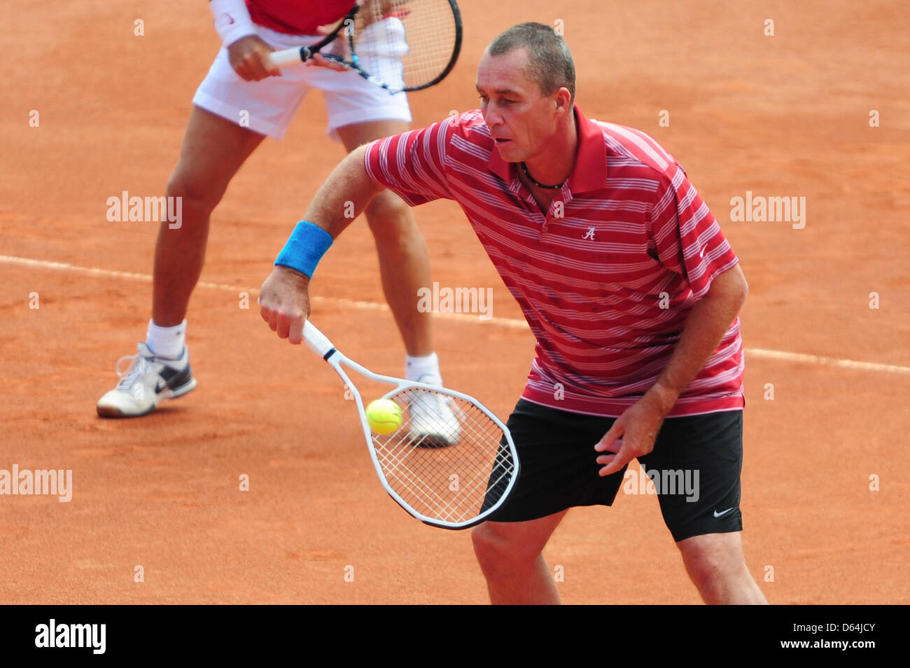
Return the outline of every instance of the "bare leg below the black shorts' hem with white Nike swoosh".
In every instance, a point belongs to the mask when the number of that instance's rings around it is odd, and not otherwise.
[[[743,533],[708,533],[676,543],[689,577],[708,604],[767,604],[743,555]]]

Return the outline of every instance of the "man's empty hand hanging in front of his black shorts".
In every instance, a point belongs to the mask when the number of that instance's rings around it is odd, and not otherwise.
[[[606,476],[622,471],[622,467],[636,457],[651,452],[663,419],[675,402],[676,397],[670,390],[655,385],[642,399],[623,410],[610,430],[594,446],[594,450],[606,453],[597,458],[598,464],[605,464],[600,474]]]

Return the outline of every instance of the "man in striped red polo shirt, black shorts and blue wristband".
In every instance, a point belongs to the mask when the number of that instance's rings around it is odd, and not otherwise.
[[[537,339],[508,422],[521,460],[473,530],[496,603],[559,602],[541,552],[566,511],[612,505],[637,458],[703,600],[763,603],[743,556],[747,285],[682,167],[651,137],[587,119],[552,28],[516,25],[477,74],[480,109],[360,147],[319,189],[262,286],[263,319],[299,343],[308,281],[387,188],[457,201]],[[675,482],[675,484],[674,484]]]

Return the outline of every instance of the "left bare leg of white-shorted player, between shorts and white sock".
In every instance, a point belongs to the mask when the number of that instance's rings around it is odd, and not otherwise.
[[[179,325],[206,258],[208,219],[227,184],[265,138],[194,106],[167,197],[182,197],[179,228],[162,223],[155,247],[152,319],[159,327]]]

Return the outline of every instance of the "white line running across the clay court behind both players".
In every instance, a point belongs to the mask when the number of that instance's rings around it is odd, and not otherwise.
[[[130,280],[140,280],[146,283],[152,281],[151,274],[136,274],[132,271],[116,271],[114,269],[101,269],[91,267],[78,267],[67,264],[66,262],[50,262],[44,259],[15,258],[10,255],[0,255],[0,262],[6,264],[22,265],[25,267],[59,269],[61,271],[71,271],[76,274],[88,274],[91,276],[107,276],[111,278],[128,278]],[[227,285],[226,283],[208,283],[200,280],[197,283],[198,288],[230,290],[231,292],[248,292],[250,294],[258,292],[258,288],[244,288],[242,286]],[[314,296],[310,299],[313,304],[338,304],[346,309],[388,311],[388,304],[377,304],[373,301],[356,301],[353,299],[339,299],[335,297]],[[480,324],[499,325],[511,329],[528,329],[528,323],[524,320],[511,318],[490,318],[481,320],[471,314],[439,312],[435,315],[442,318],[460,319],[464,322],[474,322]],[[768,350],[763,348],[746,348],[746,354],[763,359],[783,359],[789,362],[804,362],[816,366],[831,366],[840,369],[857,369],[861,371],[884,371],[885,373],[905,373],[910,374],[910,367],[900,367],[895,364],[879,364],[877,362],[863,362],[855,359],[837,359],[824,357],[822,355],[807,355],[800,352],[787,352],[786,350]]]

